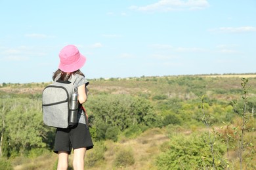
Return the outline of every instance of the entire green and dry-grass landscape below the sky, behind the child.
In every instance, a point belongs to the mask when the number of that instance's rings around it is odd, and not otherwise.
[[[234,135],[234,129],[240,134],[244,106],[241,77],[249,77],[246,112],[250,119],[244,140],[245,144],[250,142],[246,145],[244,162],[248,163],[247,169],[253,168],[248,159],[255,159],[256,149],[256,76],[186,75],[89,80],[89,100],[85,107],[95,148],[87,152],[86,169],[210,168],[207,133],[215,136],[217,143],[214,147],[219,156],[215,158],[218,160],[215,166],[229,165],[236,169],[239,166],[236,141],[240,135]],[[3,153],[14,169],[56,166],[57,157],[52,152],[54,130],[43,126],[41,117],[41,92],[50,83],[0,87],[0,118],[5,123],[5,128],[0,126],[0,135],[5,134]],[[221,128],[223,122],[229,124],[227,131]],[[13,124],[23,125],[22,135],[16,133],[19,126]],[[226,161],[223,140],[226,134],[230,135],[232,146],[230,161]]]

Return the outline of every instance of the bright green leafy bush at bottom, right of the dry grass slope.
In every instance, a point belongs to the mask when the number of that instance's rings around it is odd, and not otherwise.
[[[163,153],[158,156],[156,163],[159,169],[208,169],[211,167],[209,145],[203,135],[173,135]],[[166,143],[165,143],[166,145]],[[223,146],[216,144],[216,152],[223,154]],[[222,169],[222,165],[216,163]]]

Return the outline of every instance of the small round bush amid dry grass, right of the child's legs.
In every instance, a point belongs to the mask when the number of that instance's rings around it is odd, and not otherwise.
[[[133,151],[131,150],[131,148],[119,150],[114,160],[114,166],[116,167],[126,167],[128,165],[133,165],[134,163],[135,158],[133,156]]]

